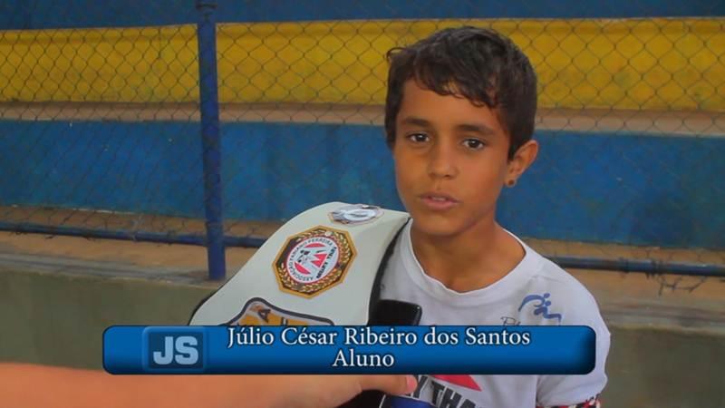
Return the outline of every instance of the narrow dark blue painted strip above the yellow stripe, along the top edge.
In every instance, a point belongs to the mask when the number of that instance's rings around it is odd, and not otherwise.
[[[720,0],[218,0],[221,22],[404,18],[626,18],[725,15]],[[192,24],[194,0],[3,0],[0,30]]]

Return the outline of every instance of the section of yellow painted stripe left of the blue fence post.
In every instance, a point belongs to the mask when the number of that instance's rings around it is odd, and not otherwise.
[[[0,32],[3,101],[198,97],[194,26]]]

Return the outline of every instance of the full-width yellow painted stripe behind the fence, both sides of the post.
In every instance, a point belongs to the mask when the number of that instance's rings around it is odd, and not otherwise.
[[[383,54],[491,26],[536,67],[547,108],[725,111],[725,18],[219,24],[221,102],[384,102]],[[193,102],[192,25],[0,32],[2,101]]]

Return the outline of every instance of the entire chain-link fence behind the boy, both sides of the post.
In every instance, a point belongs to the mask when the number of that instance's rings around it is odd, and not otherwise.
[[[52,3],[0,5],[0,221],[206,242],[193,2]],[[573,266],[725,265],[723,5],[217,3],[227,243],[327,201],[401,209],[384,54],[469,24],[539,78],[541,153],[504,226]]]

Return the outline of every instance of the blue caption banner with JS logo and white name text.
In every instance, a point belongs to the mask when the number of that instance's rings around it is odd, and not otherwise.
[[[111,374],[587,374],[594,330],[565,326],[111,326]]]

